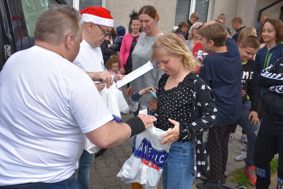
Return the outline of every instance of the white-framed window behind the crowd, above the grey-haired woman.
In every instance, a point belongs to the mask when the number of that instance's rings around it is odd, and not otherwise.
[[[193,12],[199,14],[198,22],[209,21],[210,7],[211,0],[177,0],[174,30],[178,28],[180,22],[188,21]]]

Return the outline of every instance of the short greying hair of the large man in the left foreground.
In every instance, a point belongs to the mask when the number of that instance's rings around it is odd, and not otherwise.
[[[78,10],[69,5],[55,5],[44,11],[35,27],[35,40],[60,45],[69,34],[74,35],[75,42],[80,36],[82,16]]]

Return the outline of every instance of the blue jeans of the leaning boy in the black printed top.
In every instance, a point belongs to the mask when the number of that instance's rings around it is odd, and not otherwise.
[[[256,136],[258,135],[259,126],[256,123],[250,124],[252,121],[252,117],[248,119],[248,115],[250,114],[251,109],[251,101],[247,100],[241,109],[240,118],[237,123],[245,130],[247,138],[248,138],[248,146],[247,146],[247,158],[245,160],[246,167],[250,167],[254,165],[254,146],[256,143]]]

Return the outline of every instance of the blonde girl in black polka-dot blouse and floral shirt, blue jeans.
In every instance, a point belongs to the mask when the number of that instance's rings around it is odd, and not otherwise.
[[[172,128],[162,136],[168,136],[162,143],[171,145],[162,173],[163,187],[190,188],[194,177],[208,169],[202,134],[217,122],[214,93],[195,73],[200,65],[179,36],[159,36],[152,48],[152,60],[165,72],[156,90],[156,127]]]

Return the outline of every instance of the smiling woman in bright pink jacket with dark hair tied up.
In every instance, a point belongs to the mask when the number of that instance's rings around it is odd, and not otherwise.
[[[120,72],[125,75],[132,72],[132,51],[134,50],[140,36],[138,12],[135,12],[134,10],[132,11],[132,14],[130,14],[130,27],[132,28],[132,33],[123,37],[120,50]],[[129,87],[129,85],[130,83],[127,83],[127,87]]]

